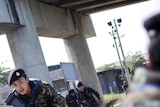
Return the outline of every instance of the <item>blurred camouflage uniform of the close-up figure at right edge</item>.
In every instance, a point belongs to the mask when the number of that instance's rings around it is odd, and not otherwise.
[[[138,68],[135,71],[133,84],[123,99],[120,107],[160,107],[160,84],[147,82],[148,78],[160,78],[160,73]]]

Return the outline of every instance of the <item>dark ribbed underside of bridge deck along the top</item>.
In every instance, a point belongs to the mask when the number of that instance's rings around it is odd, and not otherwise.
[[[67,8],[73,11],[79,11],[83,14],[91,14],[103,10],[113,9],[148,0],[39,0],[39,1],[55,5],[61,8]]]

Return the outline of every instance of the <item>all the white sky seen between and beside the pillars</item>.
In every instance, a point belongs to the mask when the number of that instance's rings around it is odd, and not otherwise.
[[[113,38],[109,35],[111,28],[107,25],[114,19],[122,19],[118,27],[125,56],[131,52],[147,52],[148,37],[143,28],[143,21],[160,11],[158,0],[111,9],[91,14],[96,37],[88,38],[87,43],[95,68],[118,61]],[[69,62],[62,39],[39,37],[47,65]],[[49,48],[48,48],[49,47]],[[0,65],[14,68],[12,55],[5,35],[0,36]]]

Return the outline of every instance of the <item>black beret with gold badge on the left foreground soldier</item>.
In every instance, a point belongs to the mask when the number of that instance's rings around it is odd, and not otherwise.
[[[26,77],[26,74],[23,69],[18,68],[12,70],[8,76],[8,84],[11,85],[14,81],[19,80],[21,77]]]

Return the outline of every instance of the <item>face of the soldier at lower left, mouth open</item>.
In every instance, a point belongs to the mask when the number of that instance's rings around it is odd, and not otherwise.
[[[19,80],[14,81],[12,86],[21,95],[29,95],[31,93],[28,78],[21,77]]]

